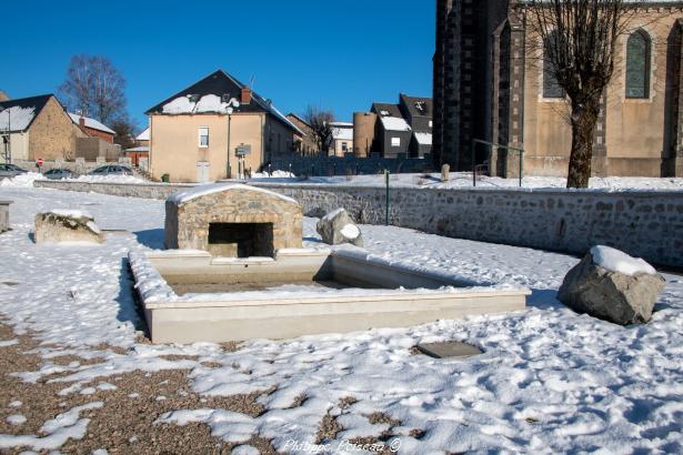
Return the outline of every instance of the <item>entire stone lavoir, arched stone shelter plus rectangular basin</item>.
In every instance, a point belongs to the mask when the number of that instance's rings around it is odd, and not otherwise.
[[[410,326],[522,310],[530,294],[359,247],[302,249],[302,223],[294,199],[260,188],[222,183],[170,195],[168,250],[129,254],[152,342]]]

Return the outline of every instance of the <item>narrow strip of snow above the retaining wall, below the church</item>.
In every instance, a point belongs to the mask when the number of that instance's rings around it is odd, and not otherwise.
[[[352,176],[312,176],[305,180],[295,178],[283,178],[273,173],[273,178],[264,180],[261,175],[255,175],[252,181],[267,181],[269,183],[307,183],[307,184],[335,184],[344,186],[384,186],[383,174],[352,175]],[[392,174],[391,186],[395,188],[472,188],[472,173],[451,172],[448,182],[441,181],[441,174]],[[495,188],[519,188],[519,179],[501,179],[498,176],[478,176],[478,189]],[[681,178],[593,178],[590,182],[591,189],[605,191],[627,191],[627,190],[681,190],[683,191],[683,179]],[[554,176],[525,176],[522,180],[522,188],[566,188],[566,179]]]

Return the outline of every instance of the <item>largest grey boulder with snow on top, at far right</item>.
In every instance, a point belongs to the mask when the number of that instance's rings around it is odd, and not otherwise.
[[[558,299],[580,313],[627,325],[650,321],[664,284],[642,259],[593,246],[566,274]]]

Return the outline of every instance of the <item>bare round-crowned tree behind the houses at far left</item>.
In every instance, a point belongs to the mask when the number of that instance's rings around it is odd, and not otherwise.
[[[102,123],[125,115],[125,79],[106,57],[73,55],[59,90],[70,110]]]

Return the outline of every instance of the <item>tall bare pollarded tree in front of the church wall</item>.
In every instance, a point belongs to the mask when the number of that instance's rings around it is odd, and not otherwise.
[[[615,49],[636,6],[627,0],[530,0],[529,26],[545,70],[570,104],[568,188],[587,188],[601,98],[614,74]]]

